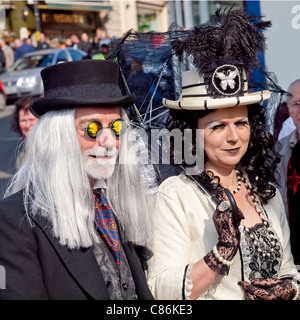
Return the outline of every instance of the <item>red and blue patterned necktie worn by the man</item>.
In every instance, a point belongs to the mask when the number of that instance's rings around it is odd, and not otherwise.
[[[120,238],[114,214],[101,189],[94,190],[95,223],[117,266],[120,265]]]

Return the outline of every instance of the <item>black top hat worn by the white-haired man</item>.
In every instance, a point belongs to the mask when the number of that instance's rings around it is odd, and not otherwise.
[[[76,107],[130,107],[135,94],[123,96],[118,85],[119,65],[107,60],[81,60],[57,64],[41,71],[44,97],[30,110],[40,117],[47,111]]]

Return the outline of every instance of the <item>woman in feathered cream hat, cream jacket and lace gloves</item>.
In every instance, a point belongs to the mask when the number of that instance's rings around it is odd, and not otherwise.
[[[232,11],[216,18],[173,42],[197,70],[183,73],[177,101],[163,100],[169,129],[202,130],[204,170],[159,187],[148,284],[156,299],[298,299],[289,227],[271,184],[273,138],[258,104],[270,92],[248,89],[270,23]]]

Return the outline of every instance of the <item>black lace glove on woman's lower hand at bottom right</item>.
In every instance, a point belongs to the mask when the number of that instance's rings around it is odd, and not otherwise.
[[[297,294],[291,279],[252,279],[238,283],[246,291],[248,300],[292,300]]]

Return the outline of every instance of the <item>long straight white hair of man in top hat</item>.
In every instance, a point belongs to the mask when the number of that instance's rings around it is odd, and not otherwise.
[[[122,109],[121,116],[130,132],[129,119]],[[123,143],[126,136],[120,144],[120,155],[127,161],[117,162],[107,181],[107,197],[123,239],[144,243],[152,229],[152,196],[141,178],[140,164],[136,164],[134,142]],[[25,162],[5,196],[23,189],[27,215],[47,218],[61,245],[72,249],[98,242],[92,189],[75,129],[75,109],[43,115],[26,139],[25,152]]]

